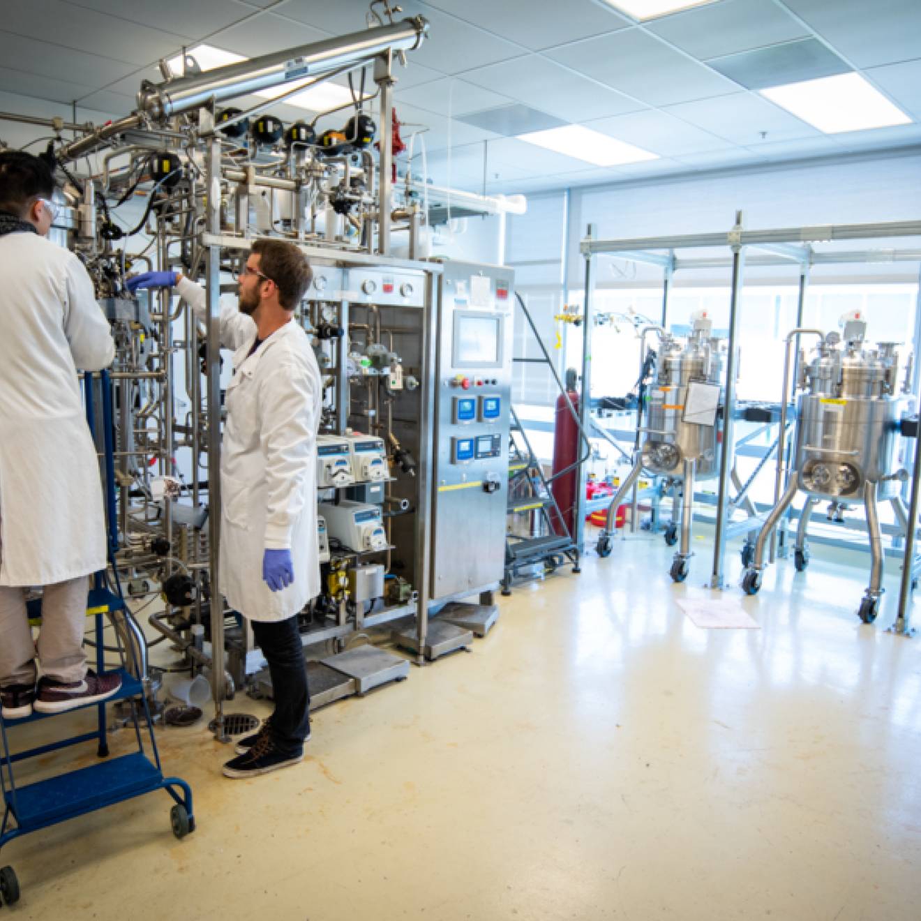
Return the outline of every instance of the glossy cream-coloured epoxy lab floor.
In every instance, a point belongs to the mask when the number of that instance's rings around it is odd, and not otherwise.
[[[680,587],[635,535],[516,590],[471,654],[318,712],[277,774],[226,780],[204,727],[158,730],[198,830],[177,842],[158,793],[29,835],[4,916],[915,921],[921,638],[883,632],[897,565],[877,626],[854,615],[866,557],[816,547],[744,600],[761,629],[702,630],[675,604],[704,593],[695,549]]]

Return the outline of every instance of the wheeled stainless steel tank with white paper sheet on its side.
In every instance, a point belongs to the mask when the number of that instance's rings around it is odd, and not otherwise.
[[[600,556],[611,554],[617,509],[640,474],[647,471],[663,476],[665,488],[681,496],[681,543],[670,568],[676,582],[687,578],[694,555],[694,484],[711,480],[719,472],[717,416],[725,402],[726,355],[725,342],[710,335],[712,328],[705,316],[695,317],[693,332],[683,343],[659,326],[643,331],[643,344],[648,333],[659,336],[655,378],[648,384],[645,402],[637,413],[635,463],[612,498],[597,548]],[[644,351],[641,348],[641,367],[646,364]],[[677,538],[677,522],[673,520],[665,540],[673,544]]]

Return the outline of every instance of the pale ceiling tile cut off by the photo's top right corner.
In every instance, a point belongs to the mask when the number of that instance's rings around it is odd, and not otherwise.
[[[918,56],[918,0],[783,2],[857,67],[897,64]]]

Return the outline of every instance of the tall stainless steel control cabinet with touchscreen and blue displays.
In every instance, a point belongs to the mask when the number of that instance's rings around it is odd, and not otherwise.
[[[446,262],[438,280],[433,600],[505,566],[512,270]]]

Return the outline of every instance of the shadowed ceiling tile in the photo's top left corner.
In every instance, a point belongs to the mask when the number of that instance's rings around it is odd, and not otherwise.
[[[73,48],[129,63],[156,61],[176,52],[182,39],[175,33],[150,29],[64,3],[63,0],[4,0],[3,26],[37,41]],[[36,62],[29,70],[45,73]]]

